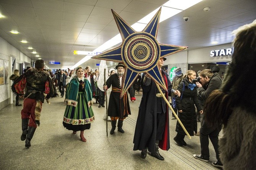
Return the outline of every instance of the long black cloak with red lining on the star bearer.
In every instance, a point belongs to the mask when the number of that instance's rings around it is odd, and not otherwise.
[[[172,83],[170,82],[166,72],[162,70],[162,75],[165,77],[166,84],[168,84],[168,92],[172,90]],[[136,128],[134,132],[134,148],[133,150],[143,150],[148,148],[149,152],[155,152],[156,132],[157,132],[157,112],[161,112],[161,107],[165,112],[165,132],[163,138],[159,141],[159,148],[168,150],[170,148],[169,139],[169,113],[167,104],[163,98],[157,98],[156,93],[159,90],[156,87],[156,83],[151,80],[151,84],[146,86],[143,84],[145,74],[141,79],[141,87],[143,90],[143,96],[139,106],[139,114],[136,122]],[[168,97],[168,93],[162,90]],[[164,137],[165,136],[165,137]],[[165,144],[165,146],[164,146]]]

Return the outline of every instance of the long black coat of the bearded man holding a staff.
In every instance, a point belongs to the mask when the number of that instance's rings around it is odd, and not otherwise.
[[[110,117],[121,117],[122,119],[123,117],[127,117],[128,114],[131,114],[127,92],[124,97],[120,99],[122,82],[120,82],[118,75],[111,75],[109,79],[107,79],[106,85],[108,88],[112,86],[112,91],[109,97],[108,115]],[[113,91],[113,88],[120,89],[120,92]],[[130,93],[130,98],[134,97],[133,86],[128,89],[128,92]],[[125,96],[127,97],[125,98]]]

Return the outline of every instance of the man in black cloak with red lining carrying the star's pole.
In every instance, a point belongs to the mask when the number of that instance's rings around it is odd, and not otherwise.
[[[166,58],[164,57],[160,58],[157,63],[158,66],[162,67],[165,60]],[[180,96],[180,91],[172,89],[167,73],[162,69],[161,72],[165,85],[168,86],[168,91],[161,89],[165,97],[168,98],[169,93]],[[141,79],[141,87],[143,96],[139,106],[133,150],[140,150],[141,157],[146,158],[148,149],[151,152],[151,156],[164,160],[164,157],[159,154],[159,148],[166,151],[170,148],[169,109],[156,83],[146,74],[143,74]]]

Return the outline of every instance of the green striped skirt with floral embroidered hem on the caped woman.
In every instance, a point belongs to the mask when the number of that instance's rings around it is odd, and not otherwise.
[[[90,129],[91,122],[94,122],[92,107],[83,92],[78,92],[76,107],[67,105],[63,117],[63,126],[68,130],[80,131]]]

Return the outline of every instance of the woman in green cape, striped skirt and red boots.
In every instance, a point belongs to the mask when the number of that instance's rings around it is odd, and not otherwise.
[[[90,129],[91,122],[94,122],[92,111],[92,87],[86,78],[83,77],[84,70],[77,67],[71,77],[66,89],[65,104],[66,110],[63,117],[63,126],[73,130],[75,135],[80,131],[81,141],[86,142],[84,130]]]

